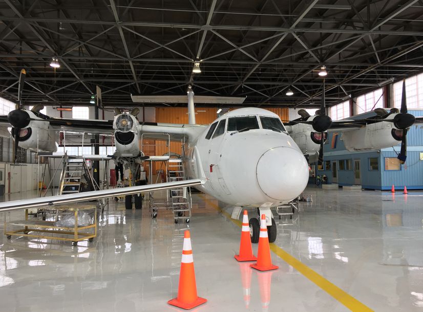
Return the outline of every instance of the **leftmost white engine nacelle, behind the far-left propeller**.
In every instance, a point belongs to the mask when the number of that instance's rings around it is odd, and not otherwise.
[[[38,119],[30,110],[26,113],[31,119]],[[15,137],[15,128],[12,128],[12,137]],[[19,147],[33,151],[57,151],[56,130],[49,128],[49,122],[43,119],[31,120],[25,128],[19,131]]]

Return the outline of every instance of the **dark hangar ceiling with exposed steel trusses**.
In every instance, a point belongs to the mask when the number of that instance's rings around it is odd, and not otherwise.
[[[313,107],[324,65],[332,105],[422,71],[422,8],[421,0],[4,0],[0,96],[16,101],[25,68],[27,105],[89,105],[99,85],[104,105],[129,106],[130,94],[182,95],[192,84],[196,95],[247,96],[243,105]],[[197,59],[202,72],[193,74]]]

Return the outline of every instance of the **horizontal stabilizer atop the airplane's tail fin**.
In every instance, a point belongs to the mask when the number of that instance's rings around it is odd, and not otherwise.
[[[188,103],[187,95],[134,95],[131,94],[134,103]],[[242,104],[245,97],[219,97],[194,95],[194,103],[210,104]]]

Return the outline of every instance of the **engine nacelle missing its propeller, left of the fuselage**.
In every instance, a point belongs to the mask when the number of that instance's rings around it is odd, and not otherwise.
[[[131,114],[115,116],[116,151],[121,157],[137,157],[140,154],[140,138],[138,135],[139,122]]]

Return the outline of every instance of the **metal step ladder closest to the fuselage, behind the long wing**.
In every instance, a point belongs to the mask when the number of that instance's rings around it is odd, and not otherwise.
[[[185,169],[182,159],[170,159],[168,168],[169,182],[185,180]],[[191,189],[187,187],[170,189],[170,197],[175,223],[178,223],[180,219],[184,219],[186,223],[189,223],[192,206]]]

